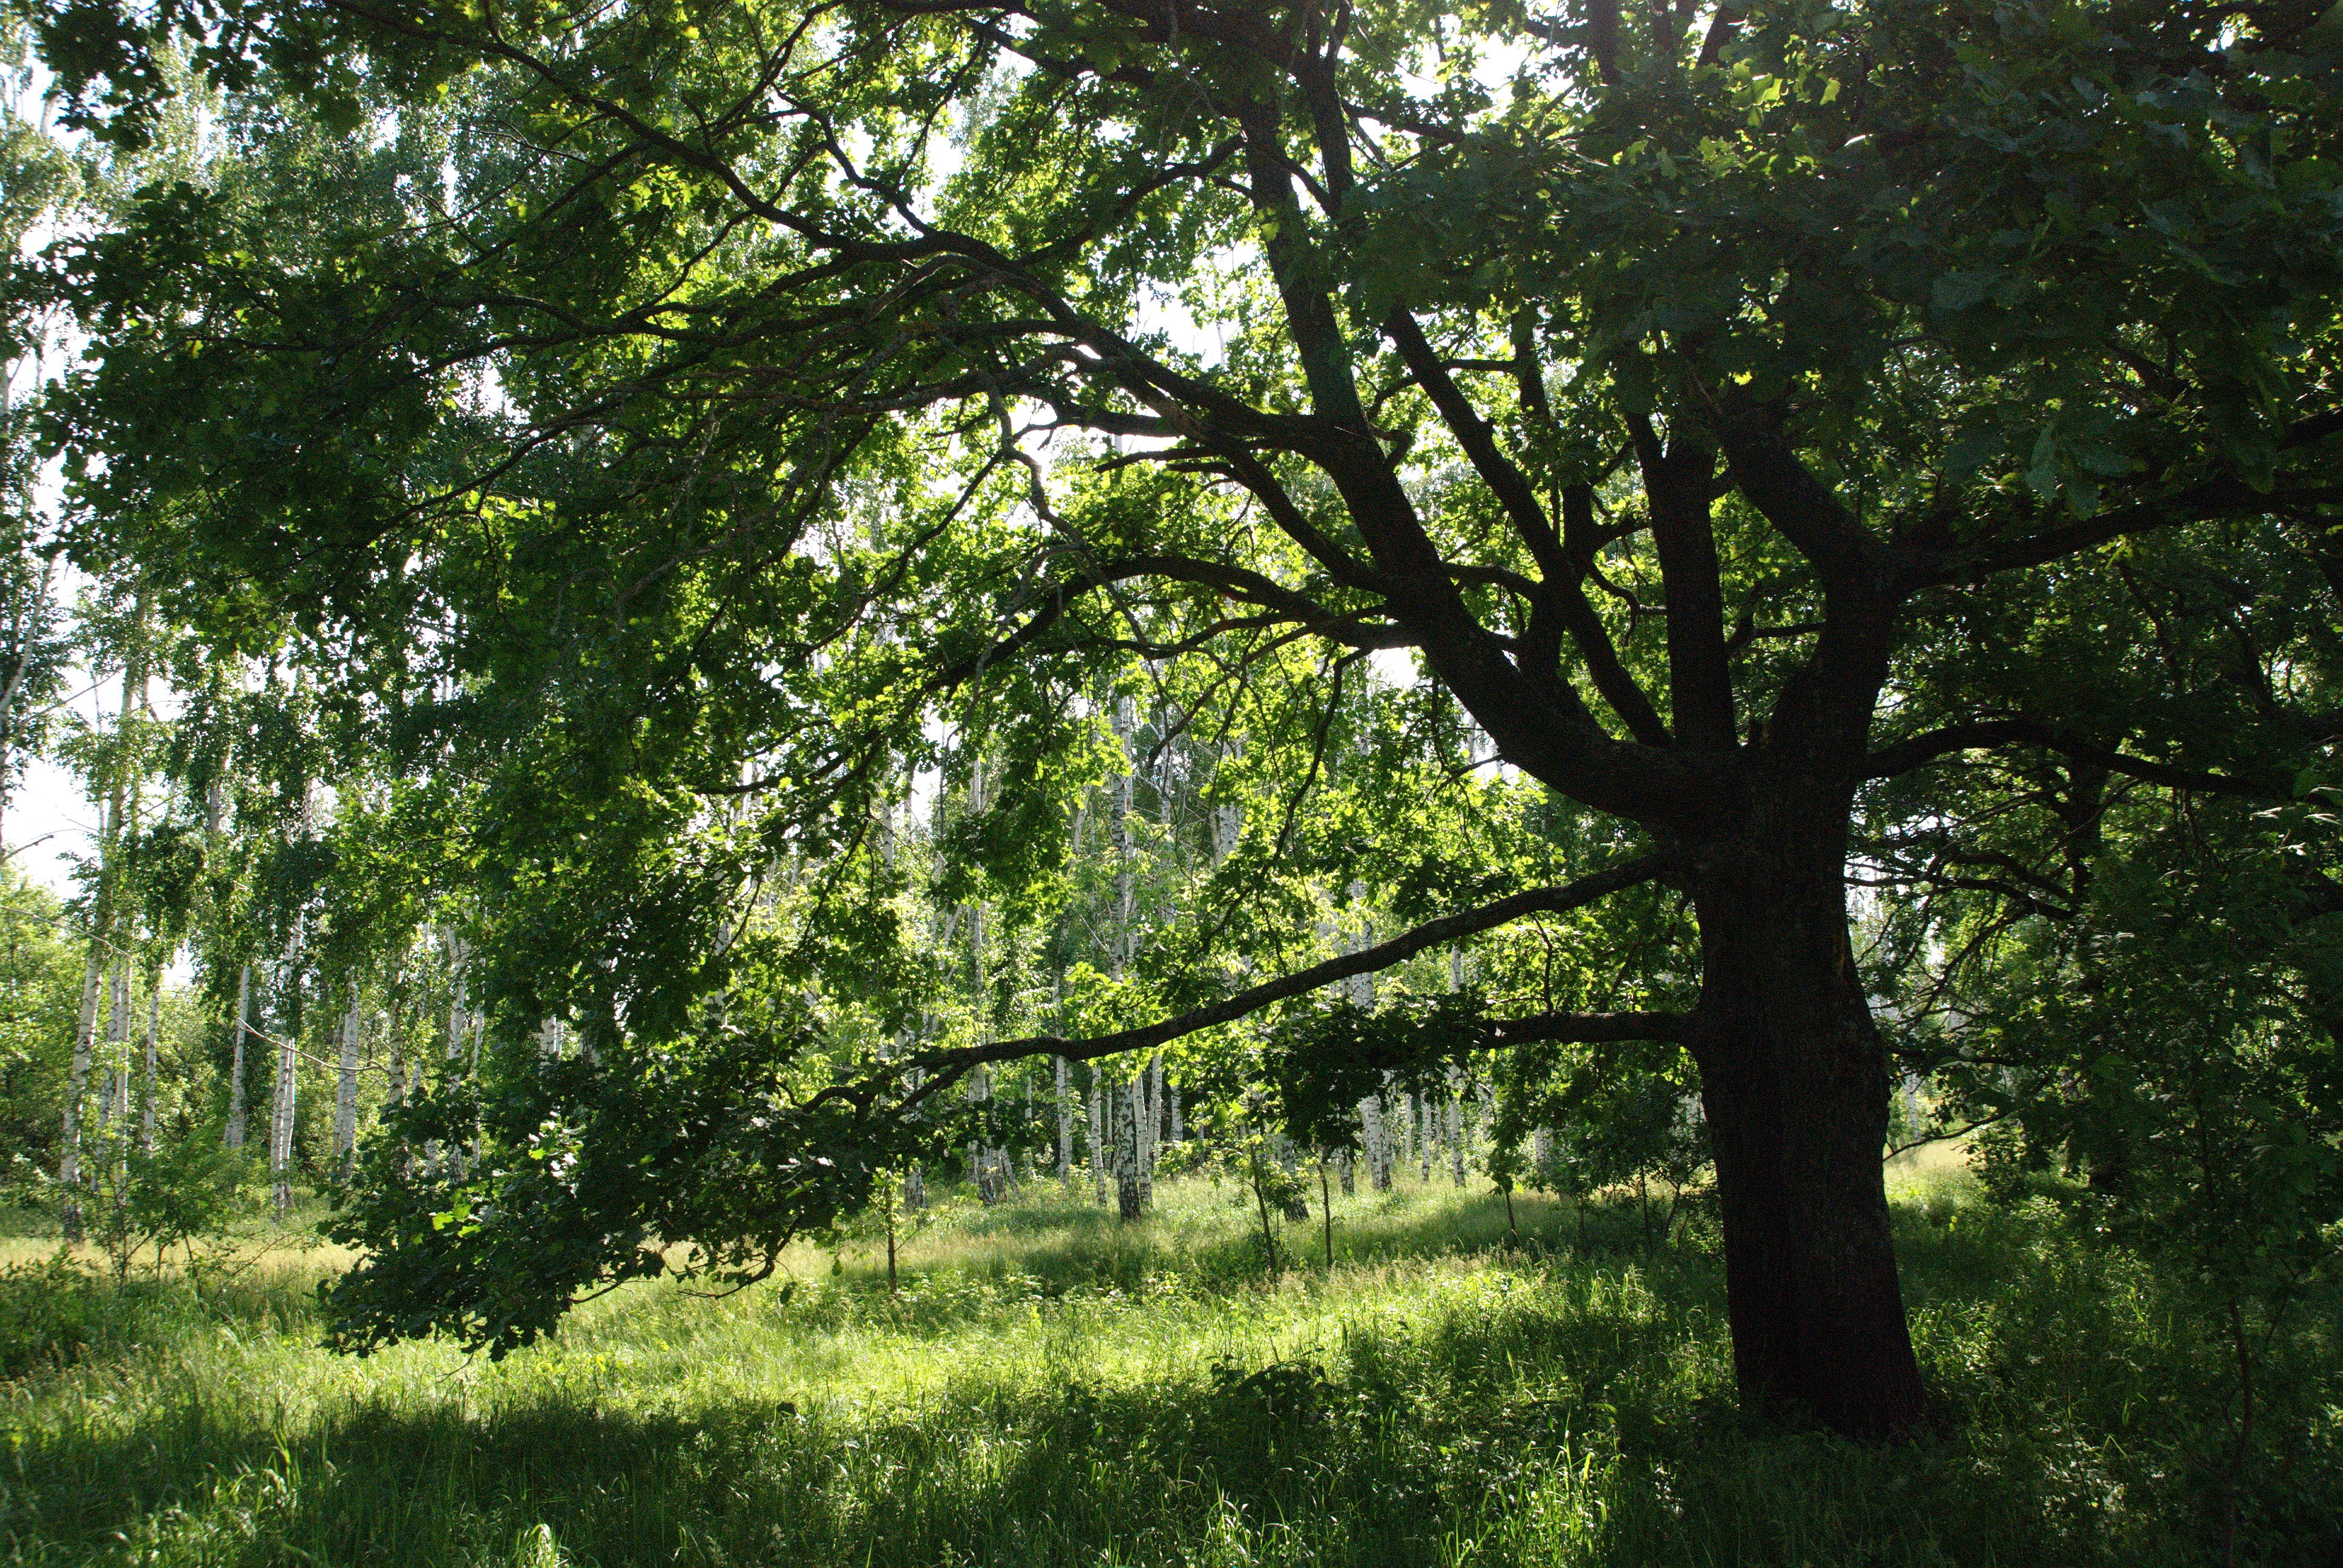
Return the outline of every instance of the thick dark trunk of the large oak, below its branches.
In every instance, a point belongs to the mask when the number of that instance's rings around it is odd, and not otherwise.
[[[1900,1432],[1926,1395],[1881,1177],[1886,1052],[1846,938],[1846,813],[1757,818],[1694,881],[1734,1371],[1757,1409]]]

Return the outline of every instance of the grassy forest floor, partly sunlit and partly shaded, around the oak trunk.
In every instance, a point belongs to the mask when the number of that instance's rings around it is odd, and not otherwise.
[[[2334,1563],[2331,1310],[2252,1446],[2209,1334],[2055,1205],[1891,1174],[1940,1434],[1736,1411],[1713,1233],[1403,1179],[1277,1226],[1186,1179],[958,1207],[726,1298],[633,1284],[504,1362],[316,1345],[337,1254],[197,1296],[0,1242],[9,1563]],[[269,1238],[253,1238],[248,1256]]]

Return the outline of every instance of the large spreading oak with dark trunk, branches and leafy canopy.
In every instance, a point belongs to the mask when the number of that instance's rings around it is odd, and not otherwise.
[[[1692,921],[1685,1005],[1497,1008],[1476,1038],[1680,1043],[1746,1397],[1919,1420],[1849,860],[1935,834],[1928,874],[1996,874],[1952,841],[1949,766],[1970,813],[1996,780],[2010,811],[2109,778],[2280,802],[2331,748],[2298,701],[2343,586],[2317,14],[47,12],[91,124],[136,134],[180,28],[281,164],[56,255],[98,345],[56,424],[87,548],[185,581],[220,635],[302,614],[403,694],[384,734],[471,780],[469,874],[565,933],[604,1078],[665,1085],[541,1160],[539,1207],[380,1165],[412,1191],[344,1294],[361,1343],[525,1336],[647,1233],[754,1259],[979,1062],[1150,1048],[1657,884]],[[2235,682],[2160,689],[2170,626],[2111,588],[2144,539],[2256,563],[2219,612]],[[2273,598],[2317,609],[2266,626]],[[1331,687],[1413,649],[1610,848],[1254,984],[1197,966],[1155,1022],[928,1052],[918,1090],[865,1062],[743,1109],[677,1066],[724,980],[705,891],[874,860],[933,713],[1017,759],[972,851],[1010,886],[1085,694],[1146,659],[1211,715],[1310,647]],[[1291,769],[1254,818],[1324,729],[1263,750]],[[754,832],[684,865],[722,799]],[[1396,865],[1422,823],[1354,830]],[[822,940],[876,963],[886,933]],[[492,1120],[551,1130],[541,1092]]]

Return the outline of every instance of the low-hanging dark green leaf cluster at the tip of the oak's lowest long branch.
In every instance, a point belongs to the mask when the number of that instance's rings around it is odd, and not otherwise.
[[[600,1287],[670,1268],[747,1284],[832,1235],[956,1123],[874,1120],[790,1080],[797,1041],[712,1027],[689,1048],[541,1062],[487,1090],[448,1076],[384,1116],[328,1235],[363,1249],[330,1282],[333,1343],[368,1352],[448,1329],[504,1357]],[[604,1045],[633,1050],[633,1045]]]

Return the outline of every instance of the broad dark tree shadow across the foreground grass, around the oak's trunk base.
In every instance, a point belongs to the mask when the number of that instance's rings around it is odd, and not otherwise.
[[[846,1397],[799,1411],[745,1383],[686,1406],[579,1378],[483,1409],[410,1378],[269,1423],[234,1388],[162,1376],[122,1423],[19,1434],[0,1549],[607,1568],[2205,1561],[2188,1432],[2109,1437],[2130,1402],[2170,1418],[2156,1390],[2188,1364],[2127,1305],[2137,1282],[2048,1221],[1898,1209],[1917,1334],[1968,1423],[1865,1448],[1736,1413],[1710,1256],[1640,1256],[1640,1216],[1621,1207],[1593,1214],[1591,1256],[1572,1256],[1574,1216],[1546,1209],[1521,1245],[1495,1200],[1364,1212],[1364,1261],[1483,1268],[1427,1273],[1403,1317],[1352,1313],[1340,1343],[1197,1352],[1141,1383],[1080,1362],[1036,1378],[1031,1359],[1000,1357],[886,1404],[848,1369]],[[1242,1235],[1106,1221],[1015,1256],[972,1249],[965,1266],[1136,1294],[1150,1270],[1256,1289],[1258,1256]],[[600,1320],[595,1338],[684,1322],[679,1303],[647,1305]],[[940,1294],[914,1331],[1024,1334],[1000,1308],[998,1291]],[[2242,1561],[2320,1561],[2301,1549],[2334,1540],[2303,1507],[2256,1509],[2263,1545]]]

